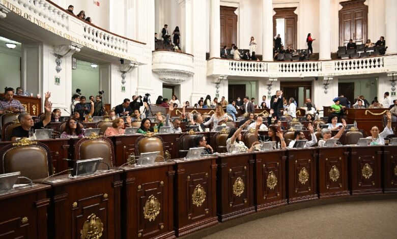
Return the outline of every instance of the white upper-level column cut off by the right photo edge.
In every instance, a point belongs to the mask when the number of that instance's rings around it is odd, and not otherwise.
[[[387,54],[397,53],[397,1],[386,0],[385,9],[385,40],[387,46]],[[379,37],[379,36],[378,36]],[[376,39],[374,42],[376,42]]]

